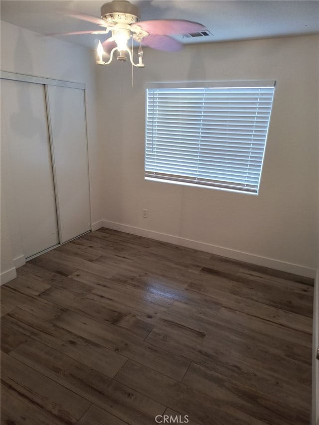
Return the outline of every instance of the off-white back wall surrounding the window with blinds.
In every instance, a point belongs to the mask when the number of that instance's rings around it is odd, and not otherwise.
[[[145,49],[146,67],[134,70],[133,89],[129,64],[99,67],[105,225],[314,277],[318,41],[304,36],[192,45],[177,53]],[[145,83],[240,79],[277,82],[259,196],[145,181]]]

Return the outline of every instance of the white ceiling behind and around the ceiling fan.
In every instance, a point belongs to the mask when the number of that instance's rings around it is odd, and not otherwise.
[[[105,0],[1,0],[1,20],[41,34],[98,30],[98,25],[67,16],[64,9],[100,17]],[[217,42],[319,33],[319,1],[308,0],[147,0],[131,1],[141,19],[176,18],[200,22],[213,34],[182,38],[183,43]],[[96,35],[60,38],[95,47]]]

